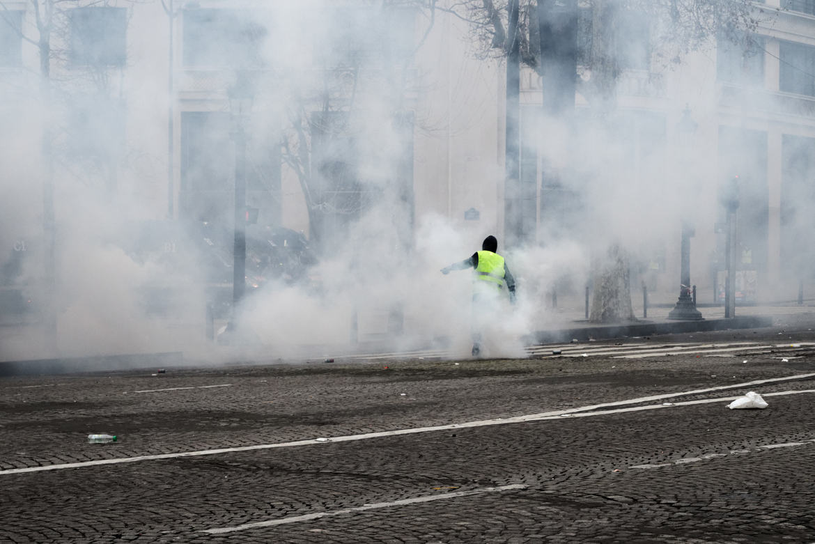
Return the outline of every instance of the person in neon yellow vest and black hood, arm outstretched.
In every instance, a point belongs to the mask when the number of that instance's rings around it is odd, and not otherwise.
[[[474,318],[482,314],[491,314],[488,308],[482,308],[491,301],[496,301],[504,289],[504,285],[509,292],[509,301],[515,304],[515,279],[509,267],[498,251],[498,240],[495,236],[487,236],[481,244],[482,250],[474,252],[464,261],[453,263],[442,269],[443,274],[449,274],[451,270],[474,270],[473,279],[473,309]],[[481,331],[480,327],[474,327],[473,331],[473,357],[478,357],[481,353]]]

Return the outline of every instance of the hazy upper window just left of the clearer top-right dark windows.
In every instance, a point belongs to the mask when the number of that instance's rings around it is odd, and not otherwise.
[[[744,34],[731,40],[719,37],[716,79],[744,86],[764,86],[764,37]]]

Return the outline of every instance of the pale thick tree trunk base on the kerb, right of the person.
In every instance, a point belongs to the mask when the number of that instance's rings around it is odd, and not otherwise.
[[[614,243],[593,263],[594,297],[588,320],[599,323],[637,321],[631,307],[628,255]]]

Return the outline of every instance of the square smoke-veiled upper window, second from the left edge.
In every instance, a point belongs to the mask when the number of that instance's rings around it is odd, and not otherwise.
[[[69,59],[75,66],[125,65],[127,11],[124,7],[77,7],[70,12]]]

